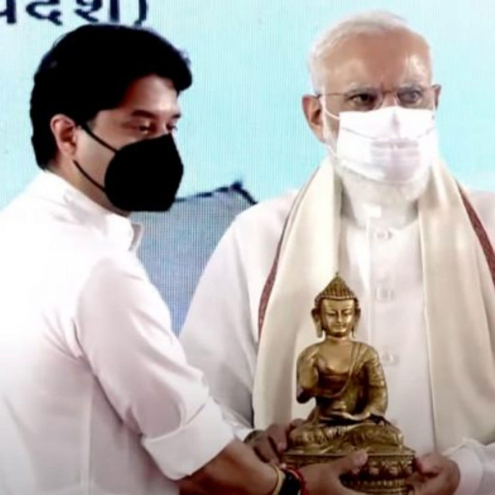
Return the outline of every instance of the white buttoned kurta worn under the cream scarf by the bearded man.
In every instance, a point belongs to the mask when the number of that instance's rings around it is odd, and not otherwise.
[[[291,192],[238,216],[206,266],[181,333],[188,359],[204,371],[241,438],[252,428],[259,300],[295,197]],[[469,199],[493,242],[495,195],[472,193]],[[339,266],[361,302],[357,338],[380,353],[389,390],[387,416],[419,454],[434,450],[415,207],[386,211],[345,199]],[[300,273],[303,277],[302,266]],[[495,446],[466,441],[450,455],[462,473],[458,494],[495,494]]]

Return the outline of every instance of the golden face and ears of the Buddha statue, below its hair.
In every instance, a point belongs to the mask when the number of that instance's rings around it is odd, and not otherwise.
[[[335,338],[350,336],[357,320],[354,299],[322,299],[313,318],[320,335],[325,332]]]

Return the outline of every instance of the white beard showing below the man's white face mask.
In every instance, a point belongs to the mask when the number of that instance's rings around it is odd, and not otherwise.
[[[375,181],[349,170],[332,157],[335,173],[341,179],[342,185],[353,201],[374,204],[377,206],[398,206],[412,203],[426,191],[431,177],[431,169],[417,178],[403,183],[392,184]]]

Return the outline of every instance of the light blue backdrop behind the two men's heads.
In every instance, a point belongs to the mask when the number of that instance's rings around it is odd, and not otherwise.
[[[109,2],[96,13],[100,21]],[[17,0],[14,24],[0,17],[0,207],[37,173],[28,119],[36,65],[53,40],[84,23],[77,4],[91,2],[62,0],[62,26],[28,15],[29,3]],[[177,135],[187,166],[182,195],[236,179],[257,199],[300,185],[323,154],[300,110],[311,41],[342,16],[375,8],[405,17],[430,41],[443,84],[446,160],[464,183],[495,189],[493,0],[148,0],[148,7],[145,25],[192,60],[195,83],[181,98]],[[120,10],[131,23],[138,0],[120,0]]]

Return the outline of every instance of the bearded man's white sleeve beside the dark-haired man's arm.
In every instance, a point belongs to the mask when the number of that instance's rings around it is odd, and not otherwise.
[[[250,304],[257,308],[258,300],[250,301],[245,266],[231,227],[206,265],[180,334],[188,361],[204,372],[241,440],[252,429],[257,352]]]

